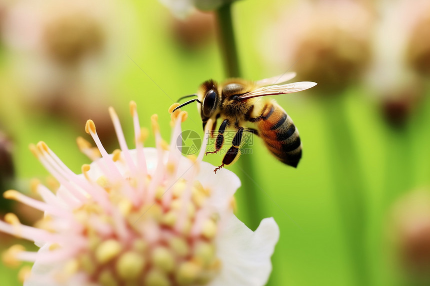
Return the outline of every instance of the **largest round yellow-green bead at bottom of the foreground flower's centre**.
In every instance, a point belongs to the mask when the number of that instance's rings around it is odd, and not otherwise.
[[[116,272],[124,280],[135,280],[145,267],[144,258],[134,252],[126,252],[116,262]]]

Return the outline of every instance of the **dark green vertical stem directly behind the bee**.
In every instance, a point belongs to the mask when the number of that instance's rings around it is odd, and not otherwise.
[[[239,59],[234,37],[233,22],[231,16],[231,3],[226,3],[217,11],[219,43],[224,60],[224,68],[227,77],[240,77]],[[239,169],[244,173],[241,176],[242,187],[238,196],[247,202],[244,208],[247,213],[247,225],[251,229],[256,229],[262,219],[260,204],[258,203],[257,186],[249,180],[255,180],[252,155],[245,154],[238,160]]]

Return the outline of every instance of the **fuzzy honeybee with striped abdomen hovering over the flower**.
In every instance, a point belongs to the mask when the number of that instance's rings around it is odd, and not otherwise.
[[[172,112],[187,104],[197,102],[203,130],[209,119],[214,122],[211,134],[215,131],[216,122],[220,119],[221,124],[215,139],[214,151],[206,152],[206,155],[215,154],[222,148],[226,128],[233,127],[236,130],[231,147],[222,159],[222,164],[213,170],[215,173],[224,165],[232,164],[238,159],[243,132],[251,132],[261,137],[267,149],[276,159],[295,168],[301,158],[301,141],[297,128],[291,117],[275,100],[259,98],[298,92],[316,85],[310,81],[281,84],[294,76],[294,72],[289,72],[256,82],[230,78],[217,83],[209,79],[200,85],[197,93],[183,96],[179,100],[192,96],[197,98],[177,106]]]

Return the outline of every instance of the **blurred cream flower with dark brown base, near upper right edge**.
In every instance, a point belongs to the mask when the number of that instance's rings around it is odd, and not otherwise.
[[[416,4],[422,8],[423,2],[418,0]],[[423,95],[422,78],[405,58],[418,12],[414,5],[405,0],[386,2],[379,11],[374,33],[368,83],[380,101],[382,115],[394,127],[406,123]]]

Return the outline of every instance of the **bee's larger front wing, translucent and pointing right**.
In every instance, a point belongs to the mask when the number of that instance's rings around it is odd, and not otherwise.
[[[302,90],[314,87],[315,85],[316,83],[312,81],[300,81],[300,82],[293,82],[293,83],[288,83],[283,85],[264,86],[241,95],[240,99],[249,99],[249,98],[259,97],[259,96],[298,92],[298,91],[302,91]]]

